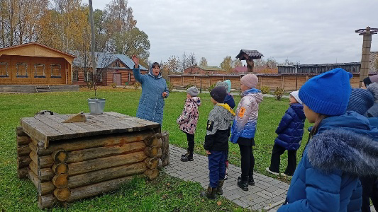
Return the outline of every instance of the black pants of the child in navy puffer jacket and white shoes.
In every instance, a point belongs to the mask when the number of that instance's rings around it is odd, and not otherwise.
[[[280,156],[286,151],[285,148],[274,143],[269,170],[279,173]],[[296,168],[296,150],[287,151],[287,167],[285,175],[293,176]]]

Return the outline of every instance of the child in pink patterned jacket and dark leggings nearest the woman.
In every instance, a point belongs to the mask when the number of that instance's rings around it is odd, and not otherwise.
[[[198,107],[201,105],[201,99],[197,97],[198,93],[199,91],[195,86],[188,88],[184,110],[182,110],[182,114],[177,118],[177,124],[187,134],[188,140],[188,152],[181,157],[181,161],[183,162],[193,161],[194,134],[199,117]]]

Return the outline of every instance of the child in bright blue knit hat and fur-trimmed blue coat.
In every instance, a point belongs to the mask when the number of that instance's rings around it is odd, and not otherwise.
[[[378,129],[346,112],[351,73],[333,69],[299,90],[311,138],[278,211],[360,211],[359,177],[378,175]]]

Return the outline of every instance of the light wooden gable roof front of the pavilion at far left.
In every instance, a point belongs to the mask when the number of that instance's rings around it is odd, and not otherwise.
[[[1,48],[0,56],[2,54],[27,57],[60,57],[65,58],[70,64],[74,60],[74,55],[42,45],[39,42],[28,42],[22,45]]]

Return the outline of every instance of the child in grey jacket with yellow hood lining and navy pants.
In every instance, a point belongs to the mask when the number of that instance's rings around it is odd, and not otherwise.
[[[227,104],[226,88],[215,87],[210,92],[214,107],[209,113],[206,126],[204,149],[209,158],[209,187],[201,196],[215,199],[216,194],[223,194],[222,186],[226,174],[226,152],[228,150],[228,135],[235,113]]]

